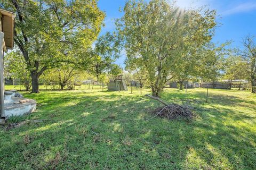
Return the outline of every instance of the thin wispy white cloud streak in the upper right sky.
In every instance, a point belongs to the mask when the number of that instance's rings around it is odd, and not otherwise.
[[[231,15],[235,13],[249,12],[252,10],[256,10],[256,2],[247,2],[239,4],[229,10],[223,11],[221,15]]]

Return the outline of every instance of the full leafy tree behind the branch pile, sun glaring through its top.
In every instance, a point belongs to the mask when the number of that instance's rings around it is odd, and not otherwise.
[[[173,74],[180,52],[192,41],[196,48],[209,42],[216,24],[215,11],[182,10],[165,0],[130,0],[123,11],[117,28],[124,38],[126,64],[146,70],[156,97]]]

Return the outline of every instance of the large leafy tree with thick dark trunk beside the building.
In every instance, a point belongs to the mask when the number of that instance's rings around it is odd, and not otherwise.
[[[30,72],[32,92],[39,92],[46,69],[69,62],[67,46],[91,46],[104,18],[96,0],[1,0],[0,5],[17,13],[14,41]]]

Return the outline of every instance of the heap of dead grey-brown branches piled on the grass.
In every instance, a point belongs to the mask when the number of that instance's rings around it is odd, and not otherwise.
[[[153,114],[155,114],[154,117],[156,116],[166,117],[166,118],[169,118],[170,120],[178,119],[178,118],[185,118],[186,120],[191,120],[191,118],[195,116],[195,113],[193,113],[193,111],[195,111],[195,108],[193,108],[190,105],[191,101],[186,101],[186,102],[182,101],[182,105],[178,105],[174,103],[167,104],[159,98],[156,98],[150,95],[146,95],[146,96],[153,98],[165,105],[164,107],[159,107],[155,109],[155,111],[153,112]],[[151,117],[149,120],[151,120],[154,117]]]

